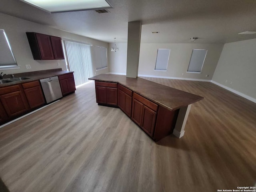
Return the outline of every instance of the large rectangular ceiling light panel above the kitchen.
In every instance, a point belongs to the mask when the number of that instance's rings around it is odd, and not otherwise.
[[[47,12],[70,12],[112,8],[108,0],[21,0]]]

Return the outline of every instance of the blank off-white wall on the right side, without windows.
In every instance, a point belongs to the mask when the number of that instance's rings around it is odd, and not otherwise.
[[[225,44],[212,80],[256,99],[256,39]]]

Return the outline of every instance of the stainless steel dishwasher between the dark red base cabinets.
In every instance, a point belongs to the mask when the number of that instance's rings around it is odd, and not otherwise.
[[[46,103],[50,103],[62,97],[58,76],[40,79]]]

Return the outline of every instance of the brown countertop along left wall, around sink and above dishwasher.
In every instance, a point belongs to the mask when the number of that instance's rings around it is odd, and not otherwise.
[[[17,73],[17,74],[14,74],[14,78],[27,77],[29,79],[0,84],[0,87],[10,86],[10,85],[15,85],[15,84],[20,84],[20,83],[26,83],[26,82],[30,82],[30,81],[36,81],[36,80],[40,80],[40,79],[44,79],[44,78],[50,78],[50,77],[69,74],[69,73],[73,73],[73,72],[72,71],[63,71],[61,68],[52,69],[52,70],[33,71],[33,72],[26,72],[26,73]]]

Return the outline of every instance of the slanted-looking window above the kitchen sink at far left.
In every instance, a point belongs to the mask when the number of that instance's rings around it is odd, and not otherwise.
[[[0,29],[0,69],[19,68],[4,30]]]

